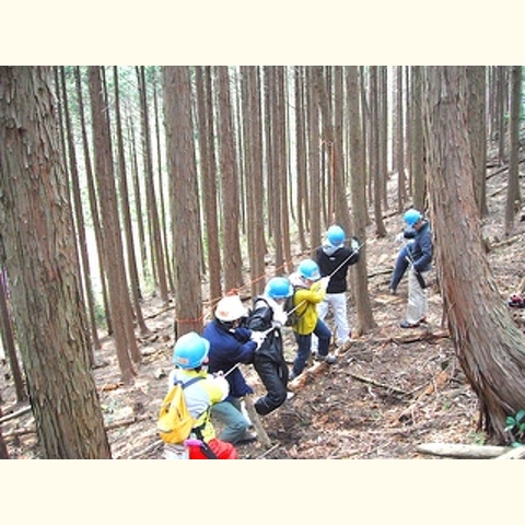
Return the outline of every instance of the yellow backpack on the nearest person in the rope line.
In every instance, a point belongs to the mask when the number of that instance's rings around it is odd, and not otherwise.
[[[189,438],[196,420],[186,406],[184,388],[205,377],[192,377],[186,384],[177,381],[162,401],[156,430],[164,443],[182,444]]]

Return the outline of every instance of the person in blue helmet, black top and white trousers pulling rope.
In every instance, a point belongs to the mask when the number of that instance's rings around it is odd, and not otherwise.
[[[325,299],[318,303],[317,313],[320,320],[325,320],[328,308],[334,310],[336,327],[335,342],[341,347],[350,341],[350,327],[347,317],[347,276],[348,268],[359,261],[359,242],[355,237],[350,241],[350,247],[345,245],[345,230],[332,224],[326,232],[327,242],[316,249],[316,261],[322,277],[329,277]],[[312,351],[317,350],[317,338],[313,337]]]

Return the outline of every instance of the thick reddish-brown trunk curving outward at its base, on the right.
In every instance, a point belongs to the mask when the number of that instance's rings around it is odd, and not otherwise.
[[[501,301],[481,243],[467,127],[465,67],[425,72],[431,217],[436,269],[459,363],[480,401],[480,427],[505,441],[505,418],[525,407],[525,338]]]

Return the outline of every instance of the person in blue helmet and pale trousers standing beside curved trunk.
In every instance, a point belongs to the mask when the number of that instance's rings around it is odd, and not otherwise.
[[[407,250],[408,262],[408,305],[406,319],[400,323],[401,328],[416,328],[427,322],[428,300],[425,276],[432,265],[432,235],[430,223],[421,212],[409,209],[404,220],[415,231],[413,243]]]

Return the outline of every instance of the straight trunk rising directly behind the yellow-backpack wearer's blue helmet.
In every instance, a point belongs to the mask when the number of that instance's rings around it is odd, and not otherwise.
[[[175,334],[202,330],[200,209],[189,69],[164,68],[164,120],[175,257]]]

